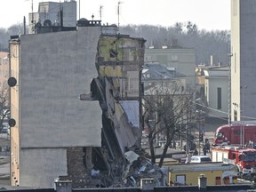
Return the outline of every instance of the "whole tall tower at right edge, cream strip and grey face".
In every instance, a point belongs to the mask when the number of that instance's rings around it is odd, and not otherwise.
[[[231,118],[256,119],[256,2],[231,0]]]

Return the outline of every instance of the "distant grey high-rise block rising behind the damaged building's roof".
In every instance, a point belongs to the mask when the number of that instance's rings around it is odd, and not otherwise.
[[[38,11],[28,15],[28,34],[35,34],[36,27],[76,27],[76,1],[40,2]]]

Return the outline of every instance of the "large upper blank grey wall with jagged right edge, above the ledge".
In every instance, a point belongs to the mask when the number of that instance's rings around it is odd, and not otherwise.
[[[100,147],[99,102],[79,100],[98,76],[99,36],[93,27],[20,37],[21,148]]]

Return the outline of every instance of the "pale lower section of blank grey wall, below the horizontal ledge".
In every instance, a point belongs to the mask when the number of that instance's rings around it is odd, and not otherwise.
[[[20,153],[20,186],[53,188],[54,179],[67,174],[67,150],[23,149]]]

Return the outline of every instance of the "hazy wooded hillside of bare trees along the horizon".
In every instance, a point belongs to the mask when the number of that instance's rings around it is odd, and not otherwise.
[[[161,48],[163,45],[173,48],[195,48],[196,64],[210,64],[213,56],[214,63],[228,64],[230,32],[228,30],[198,30],[196,24],[188,21],[187,24],[177,22],[174,26],[164,28],[151,25],[128,25],[120,27],[121,34],[134,37],[143,37],[146,48],[154,45]],[[24,34],[22,24],[12,25],[10,28],[0,28],[0,51],[8,51],[10,36]]]

